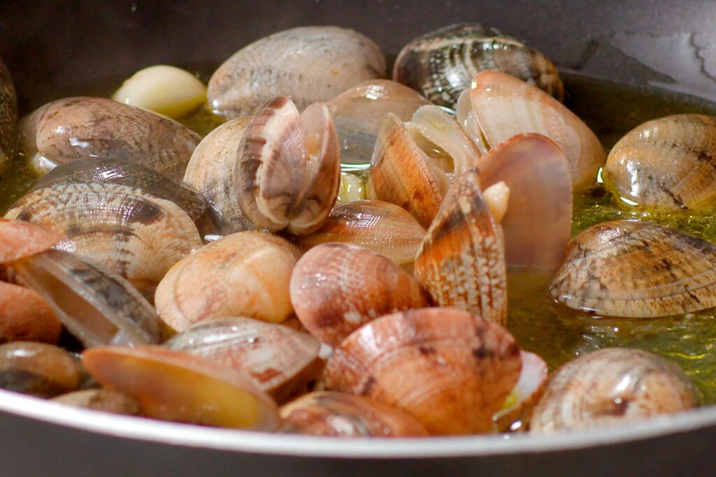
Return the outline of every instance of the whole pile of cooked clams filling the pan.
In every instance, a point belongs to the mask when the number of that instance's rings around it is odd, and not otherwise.
[[[716,245],[652,222],[571,233],[598,175],[644,210],[712,207],[716,118],[654,119],[607,157],[546,56],[479,24],[386,67],[357,31],[303,26],[239,49],[208,87],[153,67],[115,99],[19,121],[0,62],[0,167],[42,174],[0,219],[0,388],[340,437],[697,407],[684,371],[643,350],[549,373],[509,331],[507,284],[538,270],[556,303],[625,320],[715,307]],[[200,137],[175,121],[192,108],[223,124]]]

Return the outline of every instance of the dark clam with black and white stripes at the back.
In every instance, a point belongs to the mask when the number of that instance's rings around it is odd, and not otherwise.
[[[485,69],[511,74],[563,99],[559,74],[546,56],[480,24],[444,26],[413,39],[398,54],[393,79],[435,104],[455,108],[460,93]]]

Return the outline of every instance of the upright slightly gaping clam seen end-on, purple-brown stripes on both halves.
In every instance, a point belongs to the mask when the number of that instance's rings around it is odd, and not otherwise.
[[[286,97],[266,103],[238,147],[238,204],[258,228],[295,235],[317,230],[336,202],[341,164],[324,104],[299,115]]]

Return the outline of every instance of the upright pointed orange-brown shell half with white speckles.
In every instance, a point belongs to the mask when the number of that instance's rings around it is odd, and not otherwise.
[[[502,232],[480,192],[477,169],[453,184],[415,257],[415,278],[439,306],[504,325],[507,272]]]

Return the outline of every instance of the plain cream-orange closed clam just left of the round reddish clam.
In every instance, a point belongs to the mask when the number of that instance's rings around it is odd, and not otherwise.
[[[300,256],[298,247],[266,232],[226,235],[169,270],[157,287],[157,311],[176,331],[225,316],[280,323],[293,312],[289,282]]]

